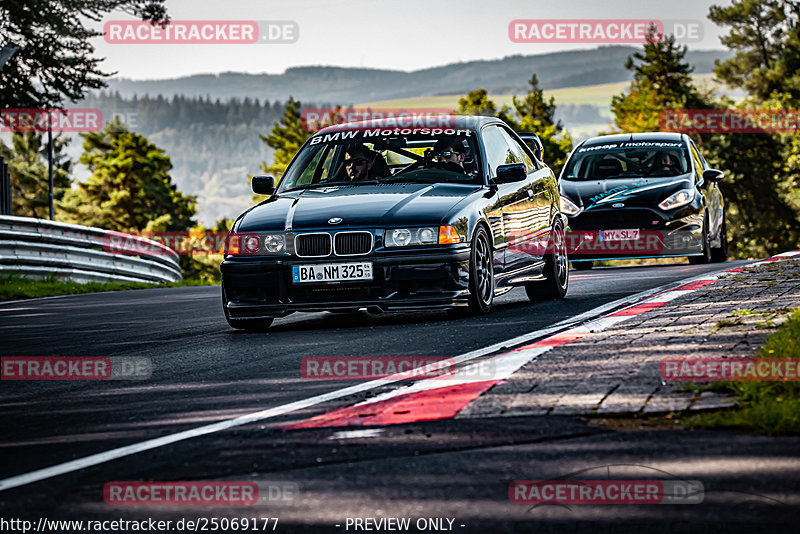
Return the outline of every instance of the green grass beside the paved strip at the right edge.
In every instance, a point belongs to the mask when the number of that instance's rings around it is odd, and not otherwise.
[[[800,357],[800,308],[756,352],[760,358]],[[719,382],[713,391],[733,393],[735,410],[698,414],[688,428],[727,428],[757,434],[800,434],[800,382]]]

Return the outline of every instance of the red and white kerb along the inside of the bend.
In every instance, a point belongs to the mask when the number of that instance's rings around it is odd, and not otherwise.
[[[281,428],[295,430],[341,426],[394,425],[453,418],[466,408],[470,402],[511,376],[528,362],[552,350],[554,347],[583,339],[592,333],[605,330],[631,317],[636,317],[664,306],[678,297],[688,295],[713,284],[722,276],[797,255],[800,255],[800,250],[778,254],[765,260],[750,263],[744,267],[736,267],[690,278],[675,288],[656,293],[598,319],[481,362],[469,364],[459,369],[455,375],[420,380],[410,386],[399,387],[376,395],[359,404],[339,408]],[[485,370],[488,368],[493,370],[491,379],[482,378],[481,375],[485,375]]]

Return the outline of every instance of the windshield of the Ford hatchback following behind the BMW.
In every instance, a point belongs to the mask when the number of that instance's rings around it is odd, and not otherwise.
[[[623,142],[581,147],[567,163],[567,180],[678,176],[689,172],[689,152],[679,142]]]

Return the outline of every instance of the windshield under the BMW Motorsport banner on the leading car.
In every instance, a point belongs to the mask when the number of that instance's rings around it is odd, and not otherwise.
[[[450,128],[318,135],[287,169],[278,193],[375,183],[483,183],[475,139],[472,130]]]

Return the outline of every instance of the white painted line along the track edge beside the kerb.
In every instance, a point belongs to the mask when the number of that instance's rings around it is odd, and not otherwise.
[[[477,349],[471,352],[467,352],[465,354],[461,354],[459,356],[449,359],[448,363],[452,364],[453,361],[455,361],[456,363],[460,363],[468,360],[473,360],[475,358],[480,358],[481,356],[485,356],[487,354],[492,354],[499,350],[509,349],[517,345],[526,344],[528,342],[547,336],[559,330],[575,326],[577,323],[594,319],[598,316],[605,314],[610,310],[613,310],[614,308],[624,306],[625,304],[632,304],[638,302],[642,299],[651,297],[659,292],[666,291],[671,287],[677,287],[679,285],[686,284],[694,280],[704,279],[705,277],[708,277],[708,274],[703,274],[701,276],[695,276],[692,278],[679,280],[677,282],[670,282],[653,289],[641,291],[639,293],[636,293],[635,295],[617,299],[613,302],[609,302],[608,304],[598,306],[597,308],[594,308],[587,312],[560,321],[548,328],[537,330],[535,332],[530,332],[528,334],[524,334],[522,336],[518,336],[513,339],[509,339],[507,341],[495,343],[494,345],[490,345],[482,349]],[[166,445],[171,445],[179,441],[184,441],[199,436],[205,436],[208,434],[213,434],[215,432],[221,432],[223,430],[228,430],[237,426],[247,425],[258,421],[264,421],[266,419],[272,419],[274,417],[279,417],[287,413],[291,413],[297,410],[302,410],[303,408],[316,406],[317,404],[321,404],[323,402],[340,399],[342,397],[347,397],[349,395],[354,395],[356,393],[361,393],[364,391],[368,391],[370,389],[375,389],[377,387],[385,386],[387,384],[392,384],[407,379],[408,379],[407,374],[401,373],[385,378],[380,378],[377,380],[371,380],[369,382],[364,382],[363,384],[356,384],[354,386],[338,389],[336,391],[331,391],[329,393],[324,393],[322,395],[316,395],[314,397],[309,397],[307,399],[291,402],[289,404],[276,406],[275,408],[261,410],[258,412],[243,415],[233,419],[219,421],[217,423],[212,423],[210,425],[204,425],[190,430],[184,430],[183,432],[177,432],[175,434],[169,434],[167,436],[161,436],[159,438],[148,439],[145,441],[141,441],[139,443],[134,443],[132,445],[118,447],[116,449],[111,449],[105,452],[100,452],[97,454],[85,456],[83,458],[78,458],[76,460],[71,460],[69,462],[64,462],[50,467],[37,469],[29,473],[16,475],[13,477],[0,480],[0,491],[16,488],[19,486],[24,486],[26,484],[32,484],[34,482],[39,482],[41,480],[46,480],[48,478],[53,478],[74,471],[79,471],[81,469],[86,469],[88,467],[100,465],[106,462],[110,462],[112,460],[117,460],[119,458],[131,456],[132,454],[137,454],[140,452],[149,451],[159,447],[164,447]]]

